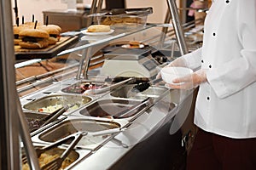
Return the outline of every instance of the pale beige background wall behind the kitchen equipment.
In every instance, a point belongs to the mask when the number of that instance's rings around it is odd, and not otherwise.
[[[85,4],[90,4],[92,0],[84,0]],[[12,0],[14,6],[14,0]],[[67,4],[61,0],[17,0],[19,17],[21,22],[22,15],[25,21],[32,21],[32,14],[35,20],[43,22],[43,11],[49,9],[66,9]],[[148,16],[148,22],[160,23],[164,21],[167,3],[166,0],[126,0],[127,8],[153,7],[154,14]],[[14,13],[15,16],[15,13]],[[15,24],[15,18],[14,18]]]

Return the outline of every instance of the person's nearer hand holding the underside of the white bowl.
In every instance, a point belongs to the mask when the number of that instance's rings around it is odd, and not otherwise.
[[[173,84],[166,83],[166,85],[170,88],[177,89],[192,89],[198,87],[201,83],[207,82],[207,69],[201,69],[199,71],[195,71],[192,74],[189,74],[185,77],[178,77],[174,79]],[[174,84],[178,83],[178,84]]]

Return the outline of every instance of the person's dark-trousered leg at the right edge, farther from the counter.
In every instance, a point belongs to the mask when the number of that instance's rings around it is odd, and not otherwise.
[[[256,139],[230,139],[214,135],[213,145],[223,170],[256,169]]]

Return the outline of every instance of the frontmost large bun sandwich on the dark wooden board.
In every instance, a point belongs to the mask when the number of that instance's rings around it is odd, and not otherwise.
[[[37,49],[47,48],[49,33],[39,29],[25,29],[20,31],[21,42],[19,45],[21,48]]]

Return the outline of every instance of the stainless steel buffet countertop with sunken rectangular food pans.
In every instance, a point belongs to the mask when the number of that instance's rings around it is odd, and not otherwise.
[[[136,86],[131,82],[121,82],[119,88],[107,93],[79,95],[63,92],[73,82],[74,79],[67,80],[61,82],[62,85],[55,84],[20,99],[26,119],[30,121],[34,145],[45,146],[70,134],[84,132],[74,149],[79,156],[73,158],[67,169],[108,169],[113,166],[137,144],[152,138],[151,135],[162,126],[172,125],[173,117],[183,105],[179,100],[187,99],[188,95],[151,85],[143,92],[128,97],[129,90]],[[60,87],[62,90],[56,91]],[[45,115],[57,115],[63,109],[62,105],[67,105],[68,109],[55,121],[46,125],[41,122]],[[35,112],[42,109],[50,113],[43,111],[39,117]],[[44,126],[41,127],[40,123]],[[62,145],[63,148],[67,146]]]

